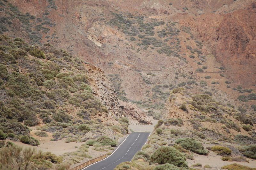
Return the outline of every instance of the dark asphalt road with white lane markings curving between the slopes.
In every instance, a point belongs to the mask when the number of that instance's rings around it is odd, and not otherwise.
[[[118,164],[131,161],[132,157],[147,142],[150,133],[133,132],[118,146],[112,155],[83,170],[113,170]]]

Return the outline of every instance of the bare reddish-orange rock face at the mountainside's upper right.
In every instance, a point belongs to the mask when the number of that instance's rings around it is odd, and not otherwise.
[[[190,26],[197,38],[212,50],[218,62],[230,72],[230,78],[244,86],[256,84],[252,72],[256,68],[255,3],[232,13],[205,14],[186,18],[181,24]],[[243,73],[243,76],[240,74]],[[248,73],[248,74],[247,74]]]

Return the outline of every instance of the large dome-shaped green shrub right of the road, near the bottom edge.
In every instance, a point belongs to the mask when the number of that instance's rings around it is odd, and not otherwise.
[[[178,150],[170,146],[161,146],[151,155],[149,164],[172,164],[178,167],[188,167],[186,157]]]

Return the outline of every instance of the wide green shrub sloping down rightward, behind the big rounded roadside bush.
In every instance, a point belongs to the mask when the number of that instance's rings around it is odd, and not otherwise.
[[[201,155],[206,155],[209,153],[208,150],[204,149],[203,144],[194,138],[179,138],[175,140],[175,143],[180,144],[184,149]]]

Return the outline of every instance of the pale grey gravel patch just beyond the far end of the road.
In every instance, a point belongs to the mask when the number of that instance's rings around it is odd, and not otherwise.
[[[152,132],[154,126],[158,120],[154,120],[153,117],[149,117],[152,120],[153,125],[129,125],[129,133],[131,132]]]

